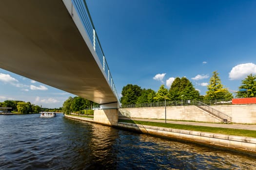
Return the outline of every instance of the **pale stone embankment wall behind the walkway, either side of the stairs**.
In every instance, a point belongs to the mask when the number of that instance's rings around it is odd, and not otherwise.
[[[234,123],[256,123],[256,104],[211,106],[232,117]],[[128,118],[165,119],[165,107],[121,108],[119,116]],[[221,122],[197,106],[166,107],[166,119]]]

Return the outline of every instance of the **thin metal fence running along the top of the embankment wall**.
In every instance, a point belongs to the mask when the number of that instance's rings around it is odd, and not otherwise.
[[[164,107],[164,106],[187,106],[187,105],[199,105],[199,102],[203,102],[207,105],[228,105],[232,104],[231,101],[225,100],[181,100],[181,101],[166,101],[166,102],[151,102],[151,103],[138,103],[121,105],[121,108],[137,108],[137,107]]]

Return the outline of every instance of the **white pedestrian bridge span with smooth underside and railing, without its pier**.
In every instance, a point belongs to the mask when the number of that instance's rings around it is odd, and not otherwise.
[[[1,0],[0,68],[118,108],[84,0]]]

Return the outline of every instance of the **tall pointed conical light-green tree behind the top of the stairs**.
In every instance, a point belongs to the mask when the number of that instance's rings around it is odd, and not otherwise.
[[[205,99],[208,99],[208,100],[212,100],[212,99],[231,100],[233,98],[232,94],[227,90],[227,88],[223,88],[220,78],[218,77],[217,71],[213,72],[213,76],[210,79],[207,89],[208,89],[208,91],[206,91]]]

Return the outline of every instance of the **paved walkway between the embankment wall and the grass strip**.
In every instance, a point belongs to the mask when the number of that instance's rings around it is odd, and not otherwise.
[[[159,119],[139,119],[139,118],[123,118],[119,119],[130,119],[138,121],[153,121],[153,122],[162,122],[165,123],[165,120]],[[195,126],[209,126],[209,127],[220,127],[220,128],[231,128],[231,129],[245,129],[256,131],[256,124],[221,124],[221,123],[203,123],[203,122],[193,122],[193,121],[176,121],[176,120],[166,120],[167,123],[174,124],[185,124],[185,125],[195,125]]]

